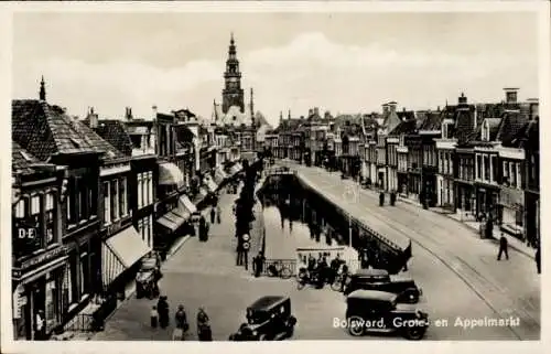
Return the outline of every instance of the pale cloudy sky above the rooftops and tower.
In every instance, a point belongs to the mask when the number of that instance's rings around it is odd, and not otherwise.
[[[320,107],[332,114],[436,109],[538,97],[533,13],[107,13],[13,17],[13,98],[47,100],[84,117],[150,118],[152,106],[209,118],[222,101],[230,33],[241,86],[255,110],[277,125]]]

